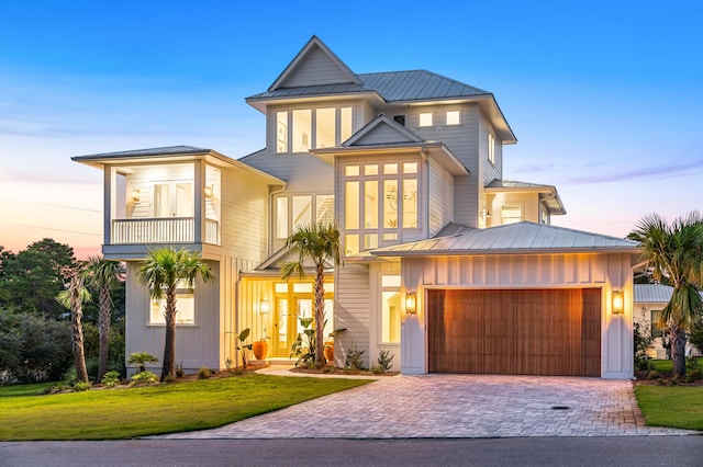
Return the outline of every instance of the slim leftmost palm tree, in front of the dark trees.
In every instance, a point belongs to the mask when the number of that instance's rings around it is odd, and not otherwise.
[[[68,278],[66,289],[59,292],[56,300],[70,310],[71,348],[74,351],[74,364],[78,380],[88,383],[88,368],[86,367],[86,352],[83,349],[83,303],[90,300],[90,293],[86,288],[82,271],[79,269],[65,269],[64,276]]]

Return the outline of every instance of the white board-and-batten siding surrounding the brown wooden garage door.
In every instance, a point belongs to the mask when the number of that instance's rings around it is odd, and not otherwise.
[[[442,288],[600,288],[604,378],[633,375],[631,254],[504,254],[411,258],[401,262],[405,289],[417,291],[417,314],[402,327],[402,372],[427,373],[425,291]],[[624,312],[613,315],[613,291],[624,293]]]

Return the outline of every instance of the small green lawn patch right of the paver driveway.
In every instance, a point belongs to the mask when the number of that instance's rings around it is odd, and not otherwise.
[[[648,425],[703,431],[703,386],[636,385],[635,395]]]

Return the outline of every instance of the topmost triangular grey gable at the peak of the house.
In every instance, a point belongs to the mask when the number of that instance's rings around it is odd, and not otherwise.
[[[310,82],[305,78],[309,71],[319,73],[321,69],[324,70],[322,81],[319,78],[315,82]],[[268,90],[272,92],[280,88],[342,83],[361,84],[361,81],[320,37],[313,35]]]

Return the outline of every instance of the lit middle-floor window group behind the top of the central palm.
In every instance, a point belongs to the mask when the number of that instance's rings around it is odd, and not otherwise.
[[[333,195],[283,195],[276,197],[274,231],[278,240],[288,238],[297,226],[312,221],[331,223],[333,220]]]

